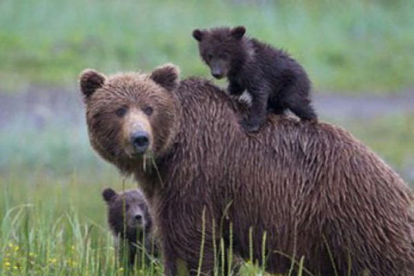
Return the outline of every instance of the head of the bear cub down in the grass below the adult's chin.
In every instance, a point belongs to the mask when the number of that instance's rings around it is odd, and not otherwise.
[[[116,193],[111,188],[102,192],[108,205],[108,224],[115,235],[126,233],[136,236],[137,232],[150,230],[152,220],[148,213],[148,204],[138,189]]]

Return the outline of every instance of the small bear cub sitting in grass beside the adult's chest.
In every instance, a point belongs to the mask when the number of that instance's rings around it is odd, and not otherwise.
[[[106,188],[102,197],[108,206],[108,224],[115,237],[115,249],[120,262],[123,262],[126,253],[128,264],[134,266],[139,249],[141,253],[145,250],[145,262],[150,264],[149,256],[156,257],[158,248],[153,239],[152,219],[144,195],[139,189],[116,193],[112,188]],[[141,257],[137,257],[137,260],[141,260]]]

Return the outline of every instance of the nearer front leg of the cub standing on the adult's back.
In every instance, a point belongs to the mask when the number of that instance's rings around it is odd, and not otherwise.
[[[247,132],[256,132],[266,119],[266,107],[270,95],[268,89],[248,89],[252,96],[252,105],[248,118],[243,118],[240,124]]]

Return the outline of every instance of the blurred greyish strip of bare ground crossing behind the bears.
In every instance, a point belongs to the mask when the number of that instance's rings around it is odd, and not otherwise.
[[[401,113],[414,113],[414,90],[402,94],[344,96],[315,93],[315,108],[325,119],[367,119]],[[75,88],[31,86],[16,95],[0,92],[0,126],[25,117],[28,123],[42,126],[45,121],[61,119],[67,124],[83,119],[83,105]]]

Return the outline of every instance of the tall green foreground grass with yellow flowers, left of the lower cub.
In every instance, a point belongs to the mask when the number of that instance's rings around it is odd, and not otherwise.
[[[39,170],[26,181],[10,172],[0,183],[0,275],[128,275],[128,266],[117,262],[101,199],[108,185],[123,187],[116,175],[104,172],[91,182],[74,172],[58,180]],[[162,271],[155,260],[134,275]],[[263,275],[251,262],[241,271]]]

